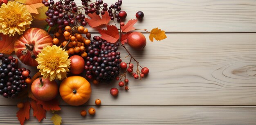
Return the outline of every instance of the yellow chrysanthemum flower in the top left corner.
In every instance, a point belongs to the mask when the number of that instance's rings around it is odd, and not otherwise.
[[[32,16],[24,4],[15,1],[9,1],[2,4],[0,8],[0,33],[4,35],[22,34],[30,28]]]

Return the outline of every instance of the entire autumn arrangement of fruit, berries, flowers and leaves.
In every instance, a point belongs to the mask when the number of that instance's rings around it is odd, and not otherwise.
[[[119,81],[119,87],[110,90],[117,96],[118,88],[129,90],[127,75],[142,79],[149,73],[126,46],[144,49],[147,38],[138,31],[150,33],[151,42],[165,39],[165,32],[135,29],[144,18],[142,11],[134,13],[137,19],[124,22],[127,13],[121,10],[122,4],[122,0],[110,5],[103,0],[0,0],[0,94],[24,100],[17,105],[21,125],[29,119],[30,108],[39,122],[51,111],[54,125],[60,125],[56,96],[60,94],[69,105],[83,105],[90,99],[89,81]],[[47,26],[31,28],[32,20],[45,20]],[[88,25],[101,36],[92,36]],[[120,47],[130,61],[122,61]],[[18,59],[10,56],[13,51]],[[29,76],[31,69],[19,68],[19,63],[34,66],[38,72]],[[96,99],[95,104],[101,105],[101,100]],[[88,110],[90,115],[95,112],[94,108]],[[80,114],[86,116],[87,112]]]

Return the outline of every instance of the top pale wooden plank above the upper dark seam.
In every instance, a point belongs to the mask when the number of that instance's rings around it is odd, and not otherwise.
[[[55,0],[57,1],[57,0]],[[81,5],[81,0],[74,0]],[[117,0],[105,0],[115,4]],[[134,19],[137,11],[144,19],[137,29],[155,27],[166,32],[256,32],[255,0],[123,0],[121,9],[128,13],[126,21]],[[34,20],[32,27],[45,26]],[[112,23],[113,24],[113,23]],[[87,26],[89,31],[92,30]]]

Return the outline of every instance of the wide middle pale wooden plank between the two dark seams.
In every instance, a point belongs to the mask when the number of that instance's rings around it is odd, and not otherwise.
[[[129,76],[130,90],[120,88],[117,98],[109,93],[110,88],[119,88],[117,81],[92,84],[92,96],[85,105],[95,105],[97,98],[102,105],[256,104],[255,34],[167,34],[167,38],[148,42],[143,51],[128,47],[141,66],[150,69],[148,77]],[[122,48],[120,52],[124,59],[126,52]],[[0,105],[16,102],[0,98]]]

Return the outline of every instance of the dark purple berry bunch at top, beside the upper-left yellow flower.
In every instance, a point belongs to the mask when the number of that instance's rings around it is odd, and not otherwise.
[[[45,12],[45,15],[47,15],[48,18],[45,21],[49,26],[52,27],[57,24],[58,29],[63,29],[65,26],[85,26],[87,24],[85,21],[85,15],[80,13],[80,10],[83,8],[78,8],[76,3],[73,1],[74,0],[59,0],[56,3],[54,0],[50,0],[49,2],[46,0],[42,1],[42,3],[48,7],[48,11]]]

